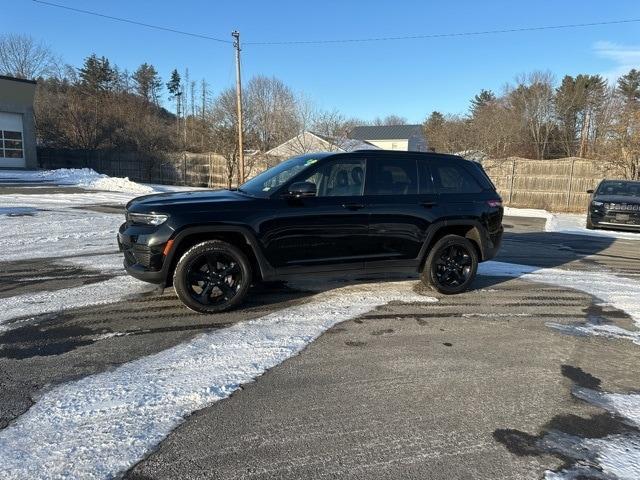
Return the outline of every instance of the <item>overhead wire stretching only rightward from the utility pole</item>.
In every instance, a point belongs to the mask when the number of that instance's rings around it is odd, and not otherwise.
[[[618,25],[621,23],[637,23],[640,18],[626,20],[610,20],[590,23],[570,23],[566,25],[544,25],[539,27],[505,28],[501,30],[480,30],[477,32],[453,32],[453,33],[428,33],[420,35],[402,35],[397,37],[371,37],[371,38],[344,38],[336,40],[284,40],[275,42],[244,42],[245,45],[313,45],[326,43],[360,43],[360,42],[385,42],[393,40],[417,40],[426,38],[470,37],[478,35],[493,35],[500,33],[534,32],[539,30],[560,30],[581,27],[597,27],[602,25]]]

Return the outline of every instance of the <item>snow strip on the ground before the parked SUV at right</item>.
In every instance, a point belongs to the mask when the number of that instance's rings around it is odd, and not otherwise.
[[[546,210],[534,208],[505,207],[505,216],[510,217],[534,217],[547,220],[545,230],[547,232],[570,233],[573,235],[590,235],[596,237],[622,238],[626,240],[640,240],[640,231],[625,232],[620,230],[588,230],[586,226],[586,214],[574,213],[550,213]]]

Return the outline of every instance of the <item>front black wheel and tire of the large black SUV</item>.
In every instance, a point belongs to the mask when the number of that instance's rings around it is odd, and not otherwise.
[[[176,265],[173,286],[182,303],[198,313],[239,305],[251,285],[251,264],[234,245],[208,240],[187,250]]]

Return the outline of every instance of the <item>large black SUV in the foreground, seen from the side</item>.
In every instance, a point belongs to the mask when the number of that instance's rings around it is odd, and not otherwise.
[[[129,274],[213,313],[253,282],[299,275],[421,272],[439,292],[462,292],[495,256],[502,215],[482,167],[457,156],[312,153],[235,190],[136,198],[118,243]]]

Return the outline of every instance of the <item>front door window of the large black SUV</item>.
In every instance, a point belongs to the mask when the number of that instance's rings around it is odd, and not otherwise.
[[[365,160],[341,160],[323,165],[305,178],[315,184],[317,197],[348,197],[364,193]]]

